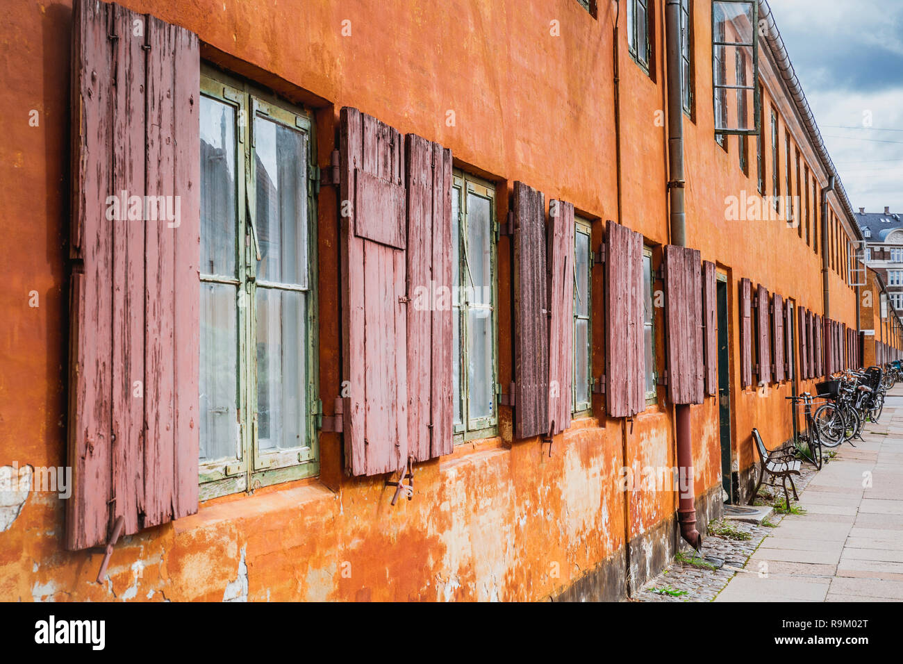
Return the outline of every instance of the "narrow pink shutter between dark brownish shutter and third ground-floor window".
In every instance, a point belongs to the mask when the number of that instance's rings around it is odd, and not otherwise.
[[[553,434],[571,426],[573,384],[573,205],[554,201],[549,218],[549,420]],[[591,291],[590,291],[591,292]],[[585,379],[581,376],[580,379]]]

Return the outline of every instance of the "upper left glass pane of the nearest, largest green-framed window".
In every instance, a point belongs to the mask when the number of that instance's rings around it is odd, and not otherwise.
[[[200,272],[236,272],[235,108],[200,98]]]

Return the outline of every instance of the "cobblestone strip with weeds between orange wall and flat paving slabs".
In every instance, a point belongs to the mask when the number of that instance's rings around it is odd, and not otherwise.
[[[827,461],[827,463],[834,463],[834,460]],[[817,472],[811,464],[804,463],[801,477],[794,478],[796,491],[801,493],[816,474]],[[763,487],[759,490],[759,496],[767,496],[768,491],[768,487]],[[779,488],[777,492],[783,496],[783,491]],[[712,602],[734,575],[757,573],[756,570],[747,571],[743,569],[743,566],[747,564],[749,557],[759,548],[762,541],[776,531],[775,527],[783,518],[784,515],[772,513],[766,519],[766,523],[773,524],[773,527],[757,526],[734,520],[722,521],[721,524],[727,524],[735,527],[738,531],[749,533],[750,538],[734,539],[709,533],[703,537],[701,554],[696,554],[693,548],[682,542],[681,550],[684,559],[698,560],[704,559],[705,556],[716,556],[724,559],[724,566],[721,569],[712,570],[708,567],[675,560],[654,580],[647,583],[632,600],[635,602]],[[710,526],[721,524],[710,524]]]

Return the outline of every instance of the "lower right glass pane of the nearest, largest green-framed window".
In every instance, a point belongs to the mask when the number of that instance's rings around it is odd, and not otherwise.
[[[307,295],[257,288],[257,443],[260,450],[307,444]]]

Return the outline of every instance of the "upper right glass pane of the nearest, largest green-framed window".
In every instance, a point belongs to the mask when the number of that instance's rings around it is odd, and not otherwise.
[[[307,285],[307,136],[264,117],[255,125],[257,276]]]

